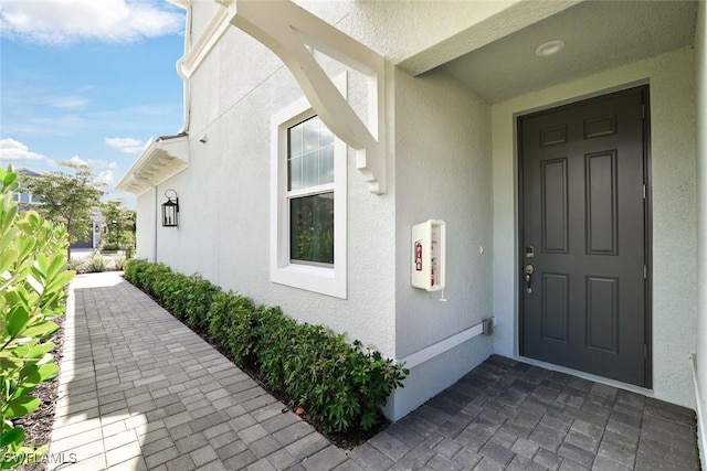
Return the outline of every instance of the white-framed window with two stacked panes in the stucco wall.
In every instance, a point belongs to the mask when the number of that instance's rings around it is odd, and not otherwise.
[[[346,146],[304,98],[272,126],[271,281],[346,298]]]

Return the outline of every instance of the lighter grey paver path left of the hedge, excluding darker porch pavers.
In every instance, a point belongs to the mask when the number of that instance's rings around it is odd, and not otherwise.
[[[49,469],[329,470],[350,461],[119,274],[76,277],[67,308]]]

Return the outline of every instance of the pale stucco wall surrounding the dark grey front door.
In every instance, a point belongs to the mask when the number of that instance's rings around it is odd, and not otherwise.
[[[514,117],[627,84],[651,84],[653,392],[695,407],[696,179],[693,52],[683,49],[493,107],[494,313],[497,353],[517,356],[517,172]]]

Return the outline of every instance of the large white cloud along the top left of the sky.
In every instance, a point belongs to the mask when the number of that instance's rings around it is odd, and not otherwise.
[[[3,36],[42,44],[135,42],[181,33],[183,13],[155,0],[3,0]]]

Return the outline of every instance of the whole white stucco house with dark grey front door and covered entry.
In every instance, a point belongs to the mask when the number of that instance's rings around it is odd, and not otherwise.
[[[704,2],[172,2],[139,257],[407,362],[393,419],[497,353],[696,409],[704,449]]]

